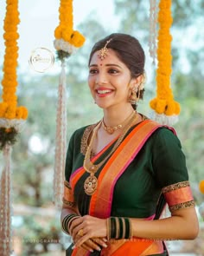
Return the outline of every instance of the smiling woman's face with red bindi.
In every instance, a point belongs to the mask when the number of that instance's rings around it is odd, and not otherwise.
[[[131,71],[118,59],[113,49],[108,49],[104,60],[96,51],[89,65],[88,84],[92,97],[100,108],[124,106],[128,103],[131,88],[136,79],[131,79]]]

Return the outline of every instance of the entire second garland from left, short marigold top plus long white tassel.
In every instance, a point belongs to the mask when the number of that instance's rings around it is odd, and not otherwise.
[[[54,48],[61,60],[61,75],[58,87],[58,102],[54,160],[54,204],[61,207],[64,169],[67,152],[67,107],[65,60],[85,43],[85,37],[73,30],[73,0],[61,0],[60,23],[54,30]]]

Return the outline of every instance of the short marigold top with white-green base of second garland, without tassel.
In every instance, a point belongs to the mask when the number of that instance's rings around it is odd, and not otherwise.
[[[73,0],[61,0],[59,13],[60,23],[54,30],[54,47],[59,59],[63,59],[80,48],[85,43],[85,37],[73,30]]]

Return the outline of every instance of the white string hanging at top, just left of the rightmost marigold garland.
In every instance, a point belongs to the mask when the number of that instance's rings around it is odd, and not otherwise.
[[[158,3],[156,0],[150,0],[150,33],[149,33],[149,51],[153,59],[153,64],[156,64],[156,49],[157,49],[157,16]]]

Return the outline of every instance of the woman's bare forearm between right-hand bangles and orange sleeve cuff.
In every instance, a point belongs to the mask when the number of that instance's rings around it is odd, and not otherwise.
[[[194,239],[199,230],[194,208],[183,209],[180,213],[162,220],[131,219],[133,236],[153,240]]]

